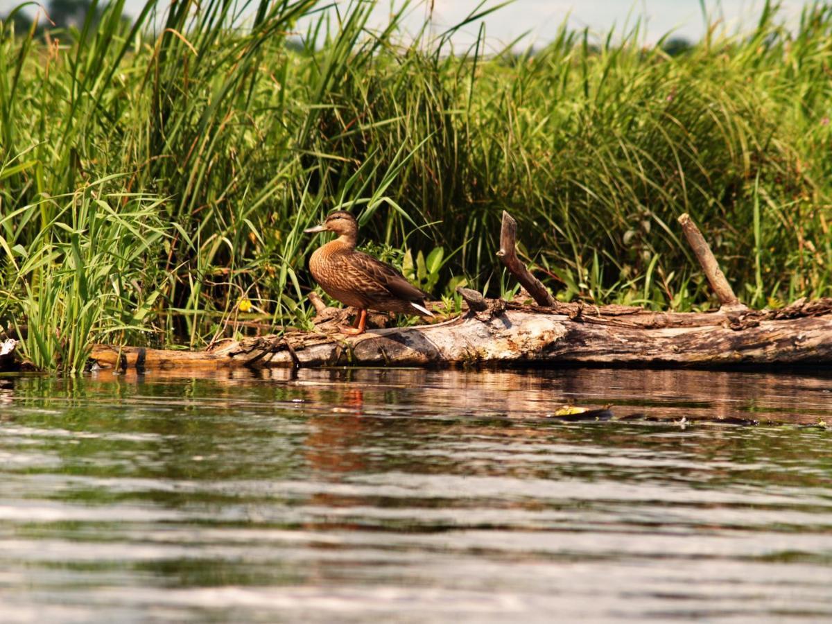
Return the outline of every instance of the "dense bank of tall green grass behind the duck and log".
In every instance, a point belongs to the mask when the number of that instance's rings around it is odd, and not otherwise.
[[[2,24],[0,322],[27,325],[36,364],[307,324],[301,232],[335,207],[391,258],[442,249],[436,298],[514,288],[502,210],[561,299],[710,305],[682,212],[750,304],[830,295],[830,7],[787,30],[768,4],[671,57],[638,27],[453,49],[496,4],[409,35],[412,7],[379,30],[374,2],[326,6],[151,0],[125,20],[121,0],[46,38]]]

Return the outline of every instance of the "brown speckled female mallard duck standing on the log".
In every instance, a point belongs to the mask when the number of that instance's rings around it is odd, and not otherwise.
[[[327,295],[344,305],[358,308],[353,326],[339,328],[344,334],[364,333],[367,310],[433,316],[424,306],[426,292],[410,284],[392,266],[355,250],[359,224],[349,212],[331,212],[324,223],[304,231],[307,234],[329,231],[339,235],[314,251],[310,271]]]

